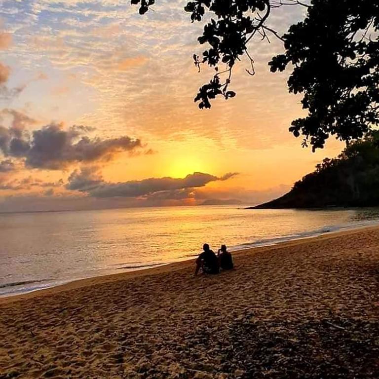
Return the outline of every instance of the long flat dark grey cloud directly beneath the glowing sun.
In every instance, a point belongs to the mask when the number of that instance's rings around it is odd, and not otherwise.
[[[160,194],[156,196],[164,197],[170,195],[170,193],[175,193],[173,191],[179,190],[178,193],[180,194],[182,190],[204,187],[210,182],[227,180],[234,175],[227,174],[223,177],[217,177],[195,172],[183,179],[164,177],[123,183],[107,183],[103,181],[95,168],[82,168],[81,171],[76,170],[70,175],[66,188],[85,192],[93,197],[140,197],[159,192]],[[164,191],[167,193],[162,193]],[[177,196],[177,193],[175,193],[175,196]]]

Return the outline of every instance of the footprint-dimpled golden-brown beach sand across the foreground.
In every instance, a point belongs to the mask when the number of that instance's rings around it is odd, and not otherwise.
[[[379,228],[234,261],[2,299],[0,378],[379,378]]]

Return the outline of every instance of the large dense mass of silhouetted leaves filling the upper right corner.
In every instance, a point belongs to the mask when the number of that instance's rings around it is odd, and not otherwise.
[[[379,2],[312,0],[302,22],[283,36],[286,52],[269,62],[272,72],[293,67],[288,88],[303,94],[307,115],[292,122],[303,146],[323,148],[336,135],[362,138],[379,124]]]

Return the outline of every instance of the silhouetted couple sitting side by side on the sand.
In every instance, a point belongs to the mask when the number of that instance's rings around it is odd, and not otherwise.
[[[234,268],[233,259],[225,245],[221,245],[221,249],[219,249],[217,256],[207,243],[204,243],[203,250],[204,251],[196,260],[195,275],[197,275],[200,268],[205,274],[218,274],[220,268],[223,270],[231,270]]]

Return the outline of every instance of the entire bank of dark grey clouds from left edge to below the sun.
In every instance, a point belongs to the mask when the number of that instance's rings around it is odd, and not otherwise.
[[[2,173],[0,189],[32,189],[44,188],[46,195],[52,196],[53,191],[46,188],[65,187],[78,191],[93,199],[132,199],[138,202],[164,202],[166,200],[181,201],[194,197],[194,189],[205,187],[210,182],[225,181],[236,173],[228,173],[222,177],[196,172],[185,178],[150,178],[140,181],[120,183],[106,182],[101,175],[102,164],[110,161],[118,152],[138,153],[143,145],[139,139],[127,136],[118,138],[89,138],[86,134],[93,128],[75,125],[65,129],[62,124],[51,123],[40,129],[28,132],[27,128],[36,123],[31,117],[15,110],[4,109],[0,112],[0,160]],[[4,126],[6,124],[6,126]],[[151,150],[145,152],[152,153]],[[77,163],[80,170],[75,170],[68,183],[43,183],[24,179],[7,179],[7,175],[19,168],[62,170]],[[93,163],[93,164],[92,164]]]

